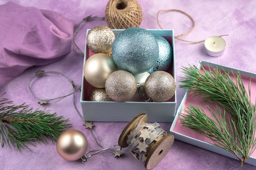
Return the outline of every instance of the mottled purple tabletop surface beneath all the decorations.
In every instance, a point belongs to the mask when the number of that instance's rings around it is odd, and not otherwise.
[[[8,0],[1,0],[0,4],[5,4]],[[16,4],[26,7],[36,7],[60,13],[64,17],[74,20],[78,24],[88,15],[103,17],[108,0],[13,0]],[[195,29],[185,35],[184,39],[199,41],[213,35],[229,34],[223,37],[227,42],[225,52],[220,57],[210,57],[204,52],[203,43],[191,44],[175,39],[175,67],[176,80],[179,84],[179,77],[182,76],[181,67],[188,64],[198,65],[200,60],[206,60],[216,64],[238,68],[244,71],[256,73],[256,49],[255,49],[255,27],[256,27],[256,1],[253,0],[161,0],[143,1],[138,0],[143,10],[143,21],[141,27],[144,29],[159,29],[157,25],[157,12],[164,9],[182,10],[195,20]],[[32,16],[31,16],[32,17]],[[11,21],[10,21],[11,22]],[[177,12],[162,12],[159,14],[159,22],[164,29],[173,29],[175,35],[180,35],[189,31],[192,22],[185,15]],[[2,24],[2,23],[0,23]],[[91,20],[85,22],[79,31],[76,43],[84,49],[86,29],[91,29],[97,25],[106,25],[104,20]],[[38,52],[39,53],[39,52]],[[58,71],[74,83],[81,85],[83,73],[83,56],[74,47],[71,53],[63,59],[45,66],[33,66],[26,69],[10,82],[0,87],[1,93],[7,92],[4,97],[13,100],[14,104],[26,102],[33,108],[44,109],[40,106],[29,92],[28,83],[34,73],[38,70]],[[2,74],[2,73],[0,73]],[[54,81],[55,80],[55,81]],[[48,80],[49,89],[38,89],[37,94],[57,95],[63,92],[52,93],[52,87],[58,85],[69,91],[70,86],[65,81],[58,79]],[[177,106],[180,105],[185,90],[177,87]],[[76,93],[76,106],[80,106],[80,92]],[[72,96],[54,103],[47,104],[47,109],[70,118],[72,128],[81,130],[88,138],[88,150],[99,149],[92,136],[85,129],[81,119],[76,113],[72,104]],[[79,107],[79,110],[81,108]],[[126,122],[94,122],[94,130],[103,146],[117,144],[119,135]],[[160,126],[169,132],[171,124],[160,123]],[[17,152],[15,148],[8,146],[0,148],[0,169],[1,170],[131,170],[146,169],[144,163],[136,160],[131,154],[114,158],[110,152],[101,152],[92,156],[87,163],[78,161],[66,161],[62,159],[57,151],[56,144],[48,141],[47,144],[35,143],[37,147],[30,146],[31,151],[22,150]],[[217,153],[204,150],[186,144],[181,141],[174,141],[171,150],[166,157],[154,168],[154,170],[254,170],[256,167],[244,164],[239,167],[238,160],[231,159]]]

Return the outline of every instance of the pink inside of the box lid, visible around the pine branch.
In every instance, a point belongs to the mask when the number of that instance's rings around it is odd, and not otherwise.
[[[204,66],[204,68],[209,70],[208,66]],[[229,73],[229,75],[233,79],[233,81],[236,80],[236,78],[234,77],[234,75],[232,73]],[[241,77],[243,80],[243,84],[244,84],[245,88],[247,89],[247,93],[248,93],[249,77],[245,77],[245,76],[241,76]],[[255,102],[256,102],[256,79],[251,79],[251,100],[252,100],[252,104],[255,104]],[[186,109],[189,106],[189,104],[191,104],[193,106],[201,107],[209,117],[211,117],[211,114],[209,113],[209,110],[204,105],[209,105],[211,110],[214,110],[214,107],[216,106],[216,104],[204,102],[204,101],[202,101],[202,99],[200,99],[200,97],[193,97],[193,95],[191,95],[191,93],[188,93],[186,101],[184,101],[184,103],[182,105],[182,113],[183,114],[187,114],[183,110]],[[182,124],[180,124],[180,117],[177,119],[177,122],[173,128],[173,131],[180,133],[187,137],[191,137],[194,139],[198,139],[200,141],[204,141],[204,142],[213,144],[213,142],[209,138],[204,137],[200,133],[195,132],[189,128],[182,126]],[[251,157],[256,158],[256,151],[253,152]]]

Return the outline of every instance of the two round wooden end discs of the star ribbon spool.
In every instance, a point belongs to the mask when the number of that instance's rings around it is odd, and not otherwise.
[[[118,140],[118,145],[121,148],[126,148],[127,146],[129,146],[129,144],[127,143],[128,134],[130,134],[130,132],[135,129],[136,124],[138,124],[139,122],[140,124],[145,124],[147,123],[147,121],[148,117],[144,113],[141,113],[134,117],[122,131]],[[159,138],[157,141],[154,141],[146,152],[146,160],[144,166],[148,170],[154,168],[160,161],[162,161],[167,152],[171,149],[173,142],[174,136],[172,134],[167,134]]]

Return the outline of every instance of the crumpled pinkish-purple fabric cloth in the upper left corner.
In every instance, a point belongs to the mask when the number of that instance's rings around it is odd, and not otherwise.
[[[70,53],[74,21],[13,2],[0,6],[0,16],[0,87],[26,68]]]

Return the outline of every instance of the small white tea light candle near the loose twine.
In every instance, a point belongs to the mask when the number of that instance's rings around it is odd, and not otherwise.
[[[224,53],[226,42],[223,38],[212,36],[204,41],[204,49],[207,55],[218,57]]]

